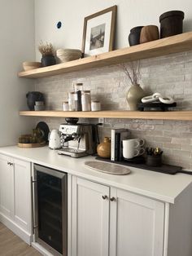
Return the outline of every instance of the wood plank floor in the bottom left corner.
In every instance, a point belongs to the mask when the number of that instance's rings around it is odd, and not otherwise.
[[[33,247],[27,245],[20,237],[0,223],[1,256],[41,256]]]

